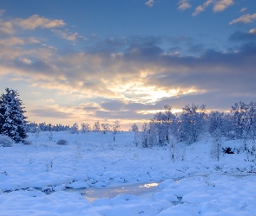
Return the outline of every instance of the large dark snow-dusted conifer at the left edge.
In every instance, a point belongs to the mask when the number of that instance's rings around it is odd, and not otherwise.
[[[5,91],[0,97],[0,134],[16,143],[22,142],[27,137],[23,101],[16,90],[6,88]]]

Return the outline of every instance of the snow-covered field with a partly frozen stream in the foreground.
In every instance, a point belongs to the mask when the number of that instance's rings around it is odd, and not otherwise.
[[[256,215],[252,156],[217,162],[205,137],[176,144],[172,162],[168,146],[142,149],[133,139],[132,132],[115,142],[110,133],[41,132],[30,134],[31,145],[0,147],[0,215]],[[136,189],[144,184],[148,191]]]

